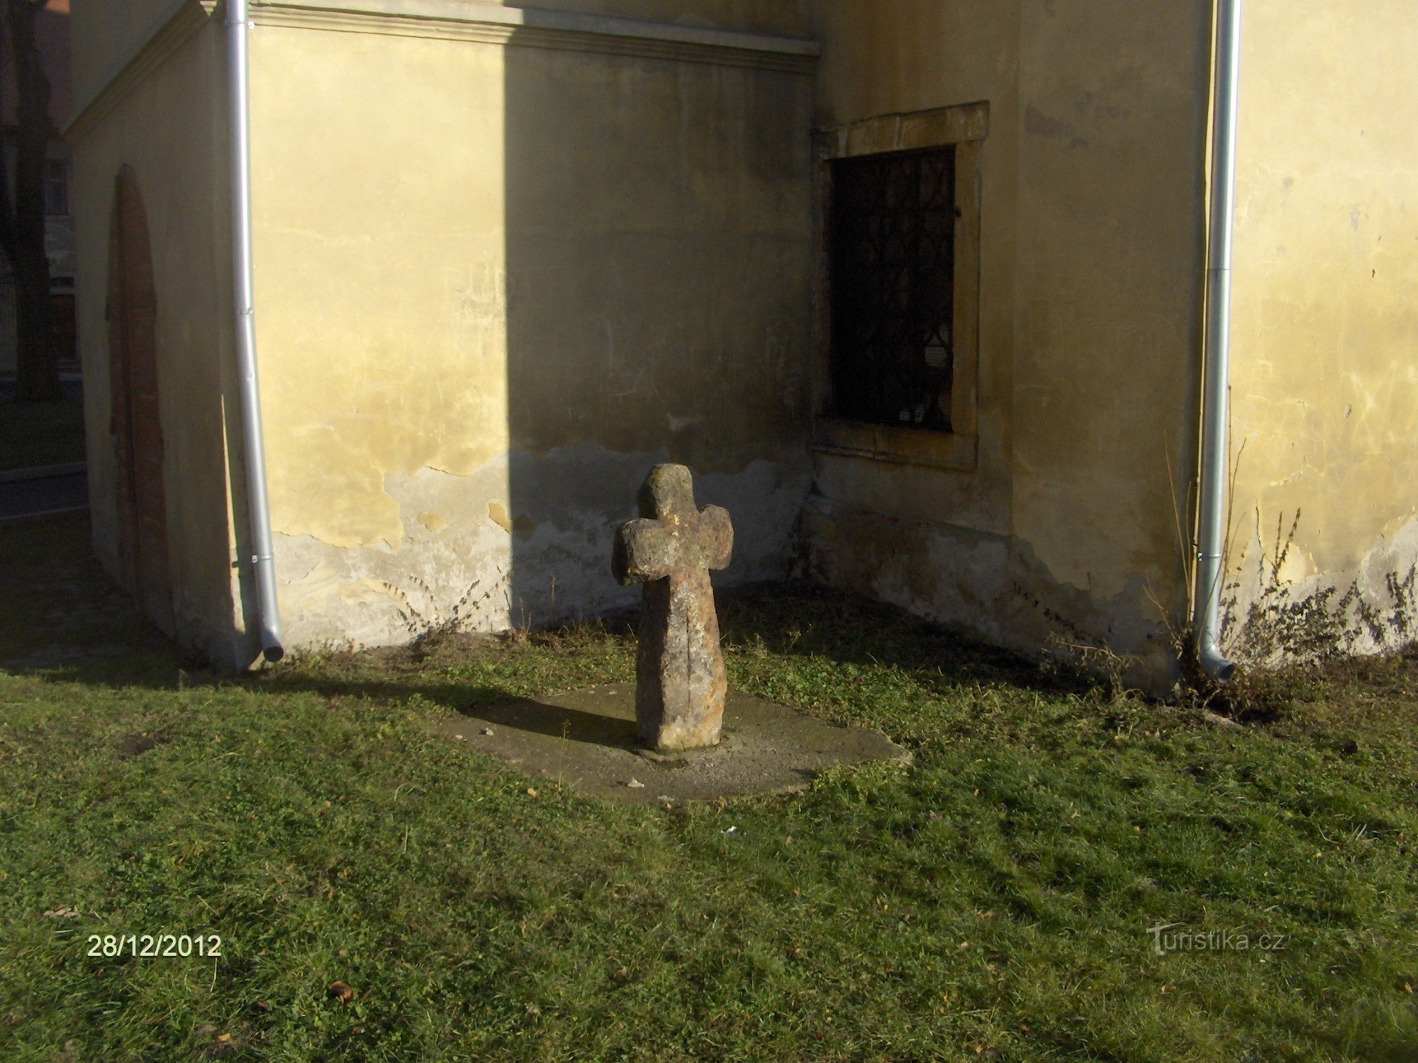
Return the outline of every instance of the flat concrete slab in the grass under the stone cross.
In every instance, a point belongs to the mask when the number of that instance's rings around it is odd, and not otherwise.
[[[593,797],[634,804],[712,801],[805,789],[830,764],[910,760],[879,731],[837,724],[730,690],[709,750],[657,754],[635,744],[635,685],[469,709],[437,733]]]

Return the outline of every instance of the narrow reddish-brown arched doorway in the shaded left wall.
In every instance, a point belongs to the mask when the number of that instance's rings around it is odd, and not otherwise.
[[[118,534],[125,583],[138,607],[172,629],[163,431],[157,388],[157,293],[147,213],[125,166],[108,230],[108,354],[118,465]]]

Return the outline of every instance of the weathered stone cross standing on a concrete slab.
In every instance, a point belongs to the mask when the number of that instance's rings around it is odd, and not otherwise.
[[[729,564],[733,524],[695,507],[683,465],[657,465],[640,489],[640,520],[615,534],[611,571],[644,583],[635,659],[635,730],[659,753],[719,744],[727,687],[709,570]]]

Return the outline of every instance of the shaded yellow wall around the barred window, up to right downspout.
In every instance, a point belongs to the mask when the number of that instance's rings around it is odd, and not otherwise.
[[[1210,3],[827,0],[824,125],[990,101],[978,469],[818,456],[828,578],[991,638],[1161,666],[1185,598]],[[888,520],[872,520],[871,513]]]

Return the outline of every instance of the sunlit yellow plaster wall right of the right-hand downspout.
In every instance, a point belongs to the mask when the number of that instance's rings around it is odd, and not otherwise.
[[[1387,614],[1385,573],[1418,553],[1415,51],[1407,0],[1245,7],[1231,371],[1245,600],[1296,512],[1282,577],[1310,590],[1357,578]]]

